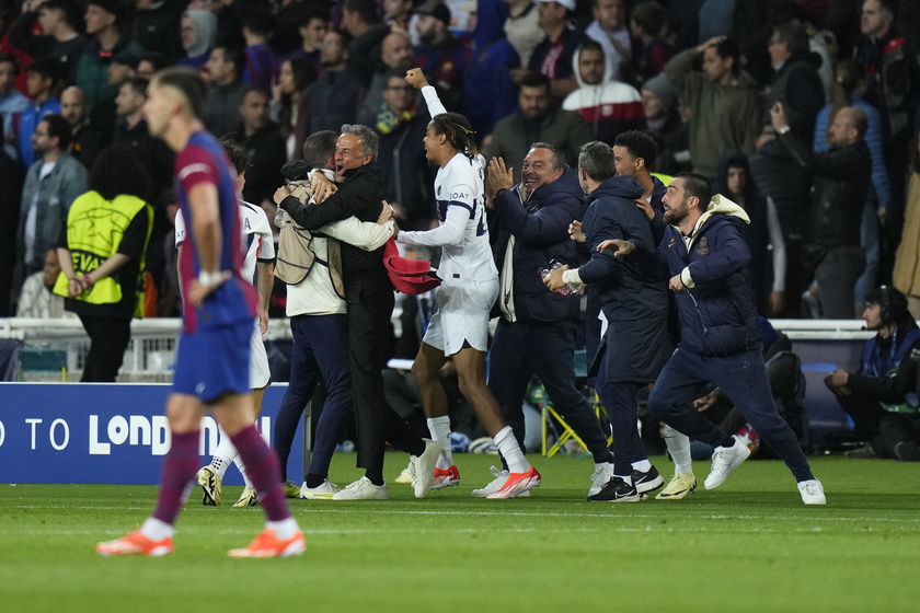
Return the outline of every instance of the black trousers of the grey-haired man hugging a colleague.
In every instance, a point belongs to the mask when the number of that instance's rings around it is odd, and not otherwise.
[[[386,442],[421,455],[425,443],[393,410],[383,393],[381,371],[389,359],[393,288],[387,277],[352,280],[345,285],[348,304],[348,348],[358,431],[358,466],[382,474]]]

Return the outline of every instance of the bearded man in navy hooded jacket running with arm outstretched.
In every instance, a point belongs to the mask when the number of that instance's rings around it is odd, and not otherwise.
[[[711,189],[709,180],[695,173],[674,177],[663,199],[668,225],[657,252],[624,240],[598,246],[617,246],[616,256],[636,251],[639,262],[657,256],[659,267],[670,276],[680,344],[655,382],[648,408],[675,430],[715,448],[705,479],[706,489],[715,489],[750,456],[737,436],[725,433],[693,406],[712,386],[720,388],[786,463],[798,482],[802,501],[825,505],[824,486],[812,474],[770,393],[747,270],[750,251],[741,235],[741,225],[749,222],[747,213],[722,196],[711,200]],[[695,482],[692,474],[689,478]]]

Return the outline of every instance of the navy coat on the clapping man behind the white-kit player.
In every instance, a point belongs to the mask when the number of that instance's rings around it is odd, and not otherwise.
[[[575,242],[568,238],[568,224],[585,213],[578,177],[566,165],[561,177],[538,187],[524,206],[519,187],[515,185],[495,197],[495,217],[488,229],[499,271],[508,240],[515,236],[515,313],[521,322],[577,322],[578,298],[549,291],[540,269],[549,268],[553,259],[572,268],[583,262]],[[498,300],[503,298],[499,296]]]

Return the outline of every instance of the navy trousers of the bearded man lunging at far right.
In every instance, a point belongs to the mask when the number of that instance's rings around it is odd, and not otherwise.
[[[758,349],[709,357],[678,348],[655,382],[648,396],[648,408],[662,421],[691,439],[720,446],[728,435],[693,406],[693,401],[703,395],[710,384],[718,386],[732,398],[796,481],[814,478],[795,433],[777,410],[763,356]]]

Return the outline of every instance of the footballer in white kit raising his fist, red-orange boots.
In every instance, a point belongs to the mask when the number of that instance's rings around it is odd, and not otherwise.
[[[540,473],[524,456],[485,381],[488,314],[498,297],[498,270],[485,223],[485,159],[476,151],[469,120],[445,109],[421,69],[409,70],[406,81],[422,91],[432,114],[424,139],[425,157],[438,165],[435,199],[440,224],[423,232],[396,231],[400,243],[441,247],[438,277],[442,284],[435,290],[436,311],[412,366],[412,374],[422,391],[428,431],[441,447],[432,488],[460,483],[439,378],[441,367],[450,358],[463,396],[507,464],[506,472],[501,472],[486,487],[473,490],[473,496],[529,495],[530,488],[540,485]],[[419,478],[417,473],[415,478]]]

